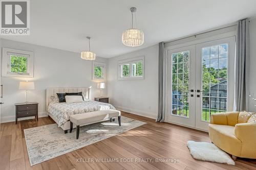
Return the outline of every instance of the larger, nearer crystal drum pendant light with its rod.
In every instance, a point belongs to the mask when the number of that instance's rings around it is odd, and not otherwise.
[[[132,28],[125,30],[122,34],[122,43],[126,46],[140,46],[144,43],[144,33],[139,29],[133,28],[133,13],[136,12],[136,8],[132,7]]]

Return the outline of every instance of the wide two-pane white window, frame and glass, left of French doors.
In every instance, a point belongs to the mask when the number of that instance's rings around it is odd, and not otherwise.
[[[118,61],[118,80],[144,79],[144,56]]]

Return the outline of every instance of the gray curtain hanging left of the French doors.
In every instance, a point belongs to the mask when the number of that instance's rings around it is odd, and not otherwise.
[[[160,42],[158,56],[158,115],[156,122],[164,121],[164,98],[164,42]]]

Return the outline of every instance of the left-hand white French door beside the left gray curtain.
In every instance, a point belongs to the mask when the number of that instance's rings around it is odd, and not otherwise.
[[[167,120],[189,127],[195,127],[195,97],[194,92],[190,92],[195,88],[195,47],[169,50],[167,58],[170,75]]]

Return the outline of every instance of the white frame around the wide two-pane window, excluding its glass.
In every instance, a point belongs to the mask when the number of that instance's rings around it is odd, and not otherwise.
[[[144,64],[144,56],[132,58],[132,59],[125,59],[118,61],[118,80],[144,80],[144,71],[145,71],[145,64]],[[142,76],[133,76],[133,64],[137,62],[142,62]],[[122,77],[122,65],[129,64],[129,77]]]

